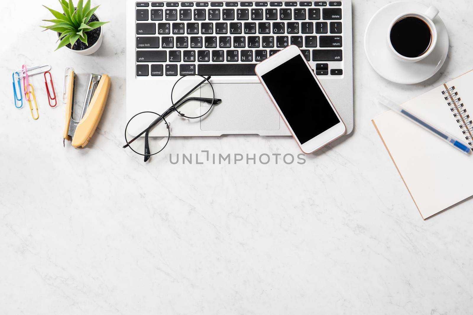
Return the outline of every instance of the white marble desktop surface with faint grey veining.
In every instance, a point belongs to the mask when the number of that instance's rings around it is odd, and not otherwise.
[[[2,1],[0,313],[471,314],[473,200],[422,221],[370,119],[385,110],[377,91],[402,102],[473,67],[473,5],[431,3],[450,35],[447,62],[406,86],[379,77],[363,51],[387,2],[353,1],[352,136],[304,165],[173,165],[168,153],[299,151],[291,138],[173,138],[143,163],[121,148],[124,1],[102,0],[112,23],[89,57],[53,52],[54,35],[40,32],[50,18],[40,3],[57,1]],[[112,77],[86,149],[62,147],[64,105],[48,107],[42,77],[32,78],[40,119],[14,108],[22,63],[50,63],[58,94],[66,66]]]

